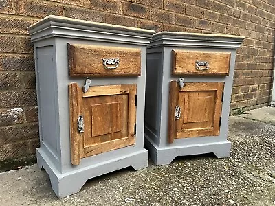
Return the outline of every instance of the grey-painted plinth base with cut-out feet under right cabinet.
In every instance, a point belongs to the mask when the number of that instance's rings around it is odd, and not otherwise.
[[[221,141],[208,144],[188,144],[182,146],[158,147],[147,135],[144,135],[144,144],[155,165],[168,165],[177,156],[199,155],[214,153],[216,157],[230,157],[231,142]]]

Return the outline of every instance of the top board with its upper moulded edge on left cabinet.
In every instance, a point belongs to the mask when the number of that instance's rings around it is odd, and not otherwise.
[[[54,25],[54,24],[66,24],[66,27],[79,27],[79,26],[84,26],[84,27],[90,27],[90,30],[92,29],[102,29],[102,30],[118,30],[120,32],[135,32],[137,34],[147,34],[147,35],[153,35],[155,34],[154,30],[144,30],[140,28],[135,28],[135,27],[126,27],[122,25],[111,25],[107,23],[98,23],[98,22],[92,22],[92,21],[85,21],[85,20],[80,20],[80,19],[72,19],[72,18],[67,18],[63,16],[54,16],[50,15],[42,19],[41,21],[34,23],[34,25],[31,25],[28,27],[28,31],[30,35],[32,33],[36,32],[37,30],[43,30],[43,25],[48,26],[48,24]]]

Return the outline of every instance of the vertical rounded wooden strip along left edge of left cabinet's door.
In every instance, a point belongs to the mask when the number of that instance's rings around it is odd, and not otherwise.
[[[71,162],[73,165],[79,165],[81,158],[80,140],[83,139],[83,133],[78,133],[77,119],[82,114],[82,96],[78,84],[69,84],[69,130],[71,139]]]

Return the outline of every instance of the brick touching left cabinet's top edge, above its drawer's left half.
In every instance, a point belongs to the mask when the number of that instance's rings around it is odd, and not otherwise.
[[[104,14],[96,11],[83,10],[80,8],[64,8],[66,17],[74,19],[83,19],[87,21],[104,22]]]

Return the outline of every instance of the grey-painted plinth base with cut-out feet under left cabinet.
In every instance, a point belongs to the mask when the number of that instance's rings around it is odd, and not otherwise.
[[[79,192],[88,179],[96,176],[129,166],[135,170],[141,170],[148,166],[148,150],[145,149],[63,174],[55,169],[41,148],[37,148],[36,155],[39,168],[44,168],[47,174],[49,174],[52,189],[58,198]]]

